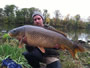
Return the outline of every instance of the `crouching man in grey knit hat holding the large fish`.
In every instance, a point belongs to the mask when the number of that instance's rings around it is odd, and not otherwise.
[[[40,12],[35,11],[32,15],[32,18],[34,25],[58,32],[55,30],[55,28],[43,24],[44,17]],[[63,32],[59,33],[66,36]],[[40,68],[41,62],[46,64],[46,68],[61,68],[61,64],[58,58],[59,53],[57,52],[57,49],[45,48],[45,52],[43,52],[38,47],[26,45],[26,50],[27,52],[24,52],[23,55],[33,68]]]

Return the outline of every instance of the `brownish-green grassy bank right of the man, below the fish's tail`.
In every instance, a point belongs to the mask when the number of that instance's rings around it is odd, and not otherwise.
[[[68,52],[60,52],[60,60],[63,68],[90,68],[90,54],[78,53],[79,59],[74,60]]]

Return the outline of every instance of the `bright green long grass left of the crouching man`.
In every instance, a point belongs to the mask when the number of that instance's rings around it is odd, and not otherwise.
[[[31,68],[30,65],[28,65],[24,56],[22,55],[24,51],[24,48],[20,49],[17,46],[11,46],[7,43],[2,44],[0,45],[0,63],[3,59],[10,56],[10,58],[13,59],[16,63],[21,64],[23,68]]]

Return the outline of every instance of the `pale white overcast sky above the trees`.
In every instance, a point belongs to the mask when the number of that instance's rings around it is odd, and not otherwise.
[[[42,12],[47,9],[50,17],[54,17],[55,10],[62,16],[80,14],[84,19],[90,16],[90,0],[0,0],[0,8],[12,4],[18,8],[39,8]]]

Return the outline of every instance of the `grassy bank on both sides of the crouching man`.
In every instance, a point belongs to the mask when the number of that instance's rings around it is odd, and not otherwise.
[[[0,45],[0,64],[3,59],[10,56],[16,63],[21,64],[23,68],[31,68],[25,60],[22,53],[24,48],[20,49],[16,41],[6,42]],[[90,54],[78,53],[79,59],[73,60],[68,52],[60,51],[60,60],[63,68],[90,68]]]

